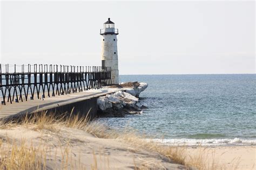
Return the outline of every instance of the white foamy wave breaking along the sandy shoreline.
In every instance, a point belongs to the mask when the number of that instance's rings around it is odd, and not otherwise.
[[[256,139],[146,139],[171,146],[256,145]]]

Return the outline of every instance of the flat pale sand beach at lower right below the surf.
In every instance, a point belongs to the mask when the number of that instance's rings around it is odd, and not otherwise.
[[[201,157],[209,169],[256,169],[256,146],[194,146],[186,147],[190,157]]]

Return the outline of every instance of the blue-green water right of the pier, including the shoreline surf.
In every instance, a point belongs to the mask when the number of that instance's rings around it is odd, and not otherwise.
[[[129,126],[165,144],[256,144],[256,74],[120,76],[128,81],[149,84],[140,94],[149,109],[99,119],[110,128]]]

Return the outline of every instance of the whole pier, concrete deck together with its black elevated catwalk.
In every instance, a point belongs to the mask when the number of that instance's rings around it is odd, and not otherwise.
[[[0,64],[0,119],[46,110],[93,118],[97,97],[113,93],[111,85],[110,67]]]

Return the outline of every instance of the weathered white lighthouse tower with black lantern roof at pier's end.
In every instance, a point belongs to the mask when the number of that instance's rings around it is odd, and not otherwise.
[[[119,83],[117,35],[118,29],[110,20],[104,23],[104,29],[100,29],[102,35],[102,67],[111,67],[112,84]]]

